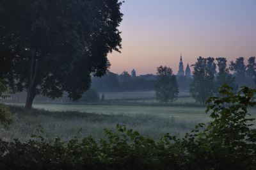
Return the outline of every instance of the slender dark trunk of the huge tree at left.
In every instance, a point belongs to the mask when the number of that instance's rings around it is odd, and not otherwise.
[[[26,98],[26,105],[25,109],[29,110],[32,107],[33,100],[36,96],[36,71],[37,71],[37,61],[36,56],[34,55],[31,60],[31,69],[30,69],[30,82],[29,82],[29,88]]]

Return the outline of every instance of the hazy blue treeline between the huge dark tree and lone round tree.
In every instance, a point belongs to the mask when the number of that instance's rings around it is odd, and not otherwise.
[[[92,88],[97,91],[150,91],[154,90],[156,75],[132,77],[128,72],[118,75],[108,72],[103,77],[92,78]]]

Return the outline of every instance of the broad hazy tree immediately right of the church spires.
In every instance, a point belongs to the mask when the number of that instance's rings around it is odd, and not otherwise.
[[[213,60],[214,61],[214,60]],[[190,93],[196,102],[205,103],[208,97],[215,92],[214,65],[212,58],[199,57],[195,63]],[[216,67],[215,67],[216,68]]]

